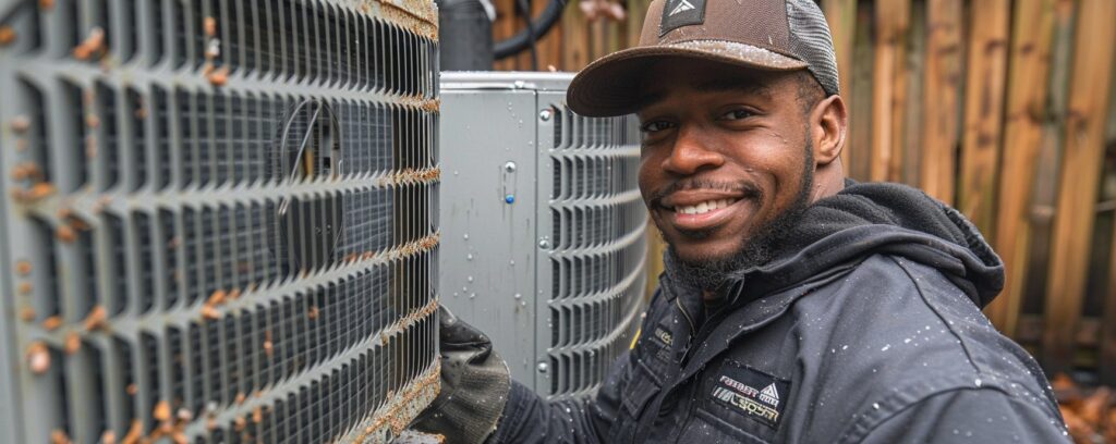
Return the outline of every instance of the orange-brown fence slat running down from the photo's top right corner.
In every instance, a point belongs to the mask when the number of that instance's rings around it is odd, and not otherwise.
[[[1116,2],[1110,0],[1084,0],[1078,10],[1042,332],[1042,363],[1052,371],[1071,368],[1075,357],[1104,156],[1114,18]]]

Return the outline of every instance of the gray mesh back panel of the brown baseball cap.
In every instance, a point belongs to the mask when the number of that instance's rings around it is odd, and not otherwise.
[[[826,94],[838,94],[837,55],[821,9],[812,0],[787,0],[787,21],[790,22],[790,51],[810,64],[807,69]]]

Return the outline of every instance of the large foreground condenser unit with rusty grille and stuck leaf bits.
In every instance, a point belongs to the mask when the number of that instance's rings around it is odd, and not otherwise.
[[[386,441],[429,404],[436,23],[0,1],[0,442]]]

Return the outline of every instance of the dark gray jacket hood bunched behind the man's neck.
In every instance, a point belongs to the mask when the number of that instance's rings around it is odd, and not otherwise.
[[[937,269],[978,307],[1003,289],[1003,262],[960,212],[906,185],[849,180],[805,210],[771,261],[733,272],[727,296],[751,300],[877,253]]]

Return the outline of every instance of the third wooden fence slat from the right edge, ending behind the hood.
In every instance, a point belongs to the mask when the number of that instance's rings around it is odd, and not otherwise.
[[[958,209],[992,239],[1011,9],[1008,0],[974,1],[971,8]]]

